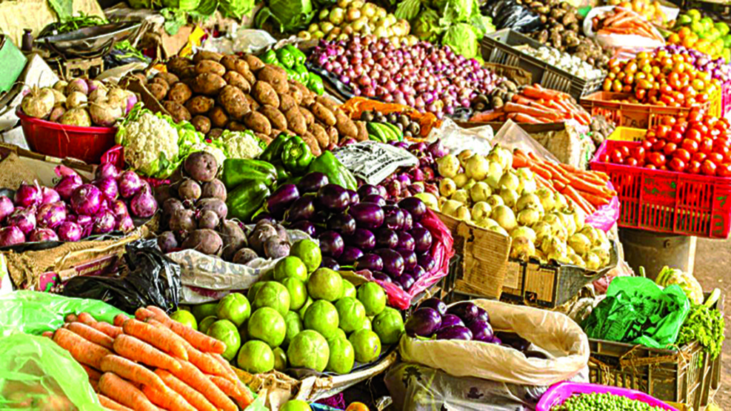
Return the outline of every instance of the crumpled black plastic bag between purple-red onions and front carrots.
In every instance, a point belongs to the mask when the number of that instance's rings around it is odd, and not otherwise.
[[[124,261],[105,274],[69,279],[63,295],[102,300],[129,314],[149,305],[173,312],[181,288],[180,265],[165,257],[153,239],[127,244]]]

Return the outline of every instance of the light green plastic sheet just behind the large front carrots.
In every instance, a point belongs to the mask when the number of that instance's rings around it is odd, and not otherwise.
[[[99,321],[114,323],[114,316],[124,314],[99,300],[20,290],[0,296],[0,336],[23,332],[39,335],[64,325],[66,314],[88,312]]]

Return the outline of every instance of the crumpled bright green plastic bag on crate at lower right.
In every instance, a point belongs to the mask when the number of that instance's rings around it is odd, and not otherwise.
[[[673,349],[689,310],[676,284],[662,290],[650,279],[617,277],[581,326],[592,339]]]

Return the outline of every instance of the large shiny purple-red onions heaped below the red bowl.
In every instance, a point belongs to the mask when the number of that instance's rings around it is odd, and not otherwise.
[[[133,171],[105,163],[91,184],[62,165],[56,173],[61,180],[53,188],[24,183],[13,200],[0,197],[0,246],[127,233],[135,228],[130,214],[148,218],[157,211],[150,185]]]

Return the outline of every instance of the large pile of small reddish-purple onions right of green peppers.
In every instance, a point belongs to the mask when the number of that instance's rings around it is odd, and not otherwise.
[[[471,99],[492,91],[499,79],[480,61],[465,59],[448,46],[417,42],[396,48],[372,35],[321,40],[310,59],[352,86],[356,96],[408,105],[439,118],[469,108]]]

